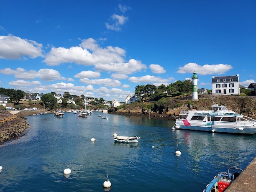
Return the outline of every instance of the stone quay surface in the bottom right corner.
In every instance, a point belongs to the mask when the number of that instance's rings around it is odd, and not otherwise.
[[[256,157],[225,192],[256,192]]]

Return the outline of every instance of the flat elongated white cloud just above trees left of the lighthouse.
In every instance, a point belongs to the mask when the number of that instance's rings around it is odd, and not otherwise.
[[[130,77],[129,81],[133,83],[168,83],[172,81],[174,78],[170,77],[168,79],[163,79],[161,77],[155,77],[153,75],[145,75],[142,77]]]

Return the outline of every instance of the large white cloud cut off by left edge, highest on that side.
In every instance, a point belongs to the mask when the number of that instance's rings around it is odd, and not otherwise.
[[[16,36],[0,36],[0,59],[20,59],[42,56],[42,44]]]

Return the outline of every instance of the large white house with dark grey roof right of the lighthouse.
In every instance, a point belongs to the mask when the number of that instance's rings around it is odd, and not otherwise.
[[[212,95],[240,95],[239,74],[212,76]]]

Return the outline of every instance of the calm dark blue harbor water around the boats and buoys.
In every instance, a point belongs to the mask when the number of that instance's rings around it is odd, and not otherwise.
[[[31,127],[24,135],[0,145],[0,191],[100,192],[108,173],[113,192],[200,192],[218,172],[244,169],[256,155],[255,135],[173,131],[174,121],[97,115],[105,116],[28,116]],[[115,143],[113,133],[141,139]],[[66,166],[72,169],[69,177],[63,175]]]

